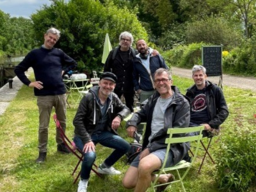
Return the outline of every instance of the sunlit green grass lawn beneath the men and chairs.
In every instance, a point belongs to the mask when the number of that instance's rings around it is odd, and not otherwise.
[[[180,92],[185,93],[193,81],[174,76],[173,84],[179,87]],[[211,148],[213,156],[218,156],[214,154],[214,148],[220,147],[218,141],[225,140],[227,134],[232,134],[234,127],[247,123],[250,129],[256,128],[253,119],[256,93],[226,86],[224,88],[230,116],[221,125],[220,136],[214,138]],[[72,138],[74,134],[72,120],[76,109],[68,108],[67,111],[67,135]],[[53,113],[54,110],[52,115]],[[77,158],[72,154],[64,155],[56,152],[56,129],[53,120],[49,125],[47,161],[44,164],[35,163],[38,156],[38,108],[31,88],[22,86],[4,115],[0,116],[0,129],[0,191],[77,191],[77,184],[72,184],[71,177]],[[132,141],[127,137],[125,129],[119,129],[119,134],[125,140]],[[101,145],[97,145],[96,150],[96,164],[102,163],[111,152],[110,148]],[[122,187],[122,177],[129,167],[125,164],[125,160],[124,156],[115,164],[115,168],[122,171],[122,175],[100,179],[92,173],[88,191],[132,191]],[[199,166],[199,161],[198,159],[195,166]],[[192,168],[184,182],[187,191],[221,191],[214,181],[214,167],[211,162],[206,162],[200,174],[197,173],[196,168]],[[179,184],[173,184],[172,190],[166,191],[180,190]]]

